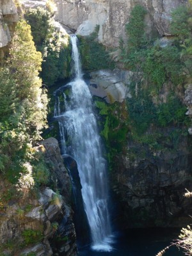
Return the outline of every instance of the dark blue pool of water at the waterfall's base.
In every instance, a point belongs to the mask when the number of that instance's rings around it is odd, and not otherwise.
[[[79,256],[156,256],[166,246],[174,243],[180,234],[175,228],[152,228],[128,230],[116,234],[111,252],[95,252],[89,246],[79,248]],[[176,246],[172,246],[163,256],[182,256]]]

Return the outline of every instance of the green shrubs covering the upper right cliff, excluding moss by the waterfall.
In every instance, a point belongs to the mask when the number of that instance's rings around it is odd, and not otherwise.
[[[184,39],[183,35],[189,35],[186,29],[182,29],[184,21],[177,17],[177,13],[185,10],[182,6],[173,13],[172,30],[180,35],[179,40]],[[186,11],[185,11],[186,12]],[[186,57],[184,57],[184,47],[177,39],[168,42],[165,47],[161,46],[158,40],[150,42],[145,35],[145,14],[142,6],[135,6],[131,12],[129,23],[126,26],[128,40],[126,44],[121,44],[122,63],[124,67],[134,71],[131,84],[132,98],[127,99],[129,112],[129,136],[132,140],[145,143],[150,148],[165,149],[161,141],[163,134],[155,131],[155,127],[170,129],[166,134],[167,141],[179,141],[181,134],[187,134],[189,118],[185,115],[187,109],[183,104],[184,84],[187,76],[184,74],[186,69]],[[186,18],[186,13],[181,15]],[[179,24],[179,22],[181,22]],[[187,29],[188,30],[188,29]],[[141,33],[140,40],[138,36]],[[135,42],[138,40],[138,44]],[[187,40],[188,42],[188,40]],[[184,60],[185,58],[185,60]],[[189,54],[188,54],[189,61]],[[188,62],[187,61],[187,62]],[[172,134],[174,127],[175,134]],[[148,131],[153,136],[148,136]],[[177,137],[177,140],[175,140]],[[174,138],[174,140],[173,140]],[[176,145],[175,145],[176,146]]]

